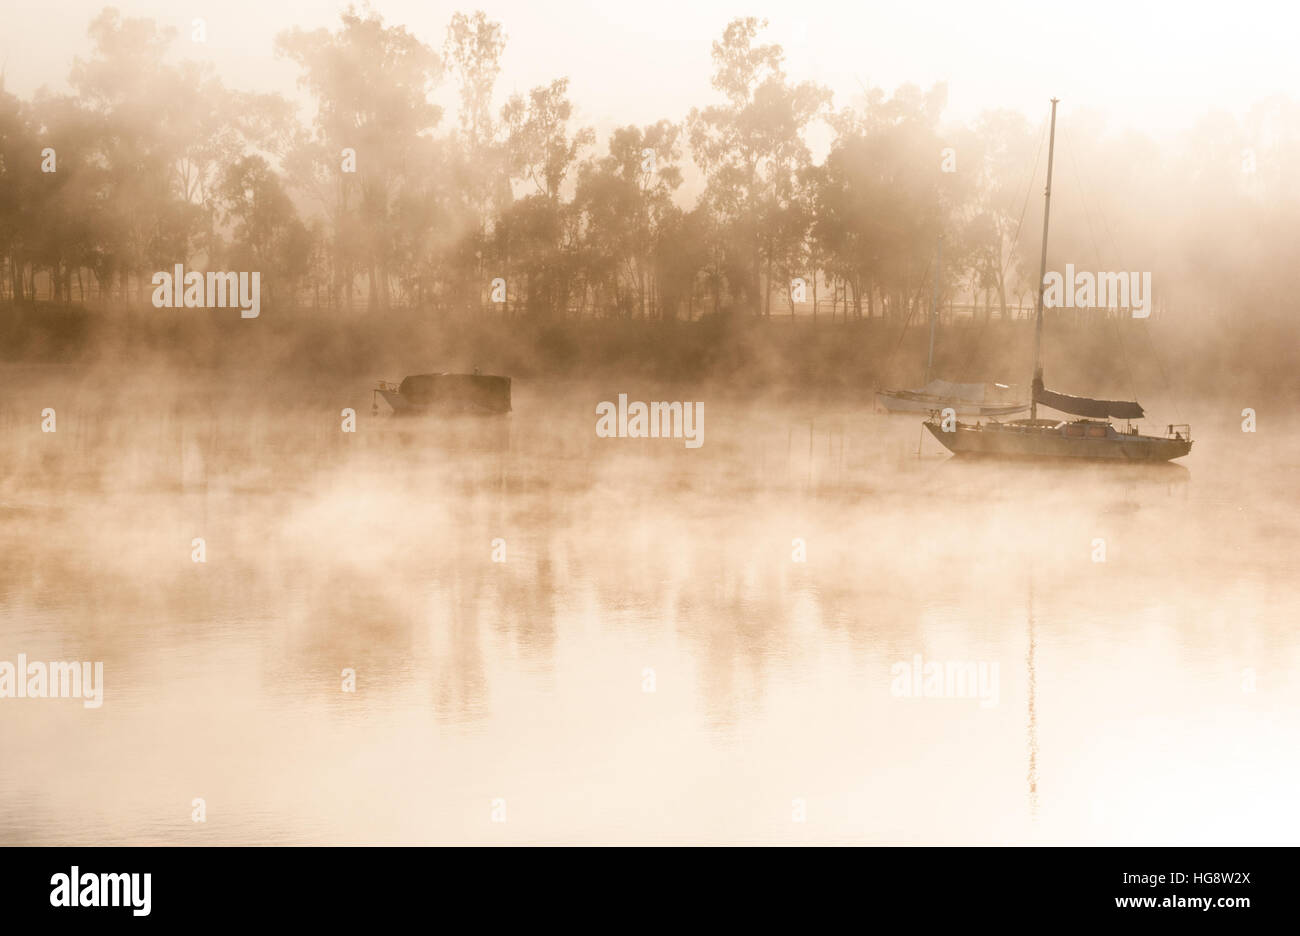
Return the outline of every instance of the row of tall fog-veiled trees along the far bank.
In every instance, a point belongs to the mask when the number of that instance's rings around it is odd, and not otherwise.
[[[334,29],[282,32],[274,52],[299,69],[304,121],[280,95],[173,64],[172,30],[105,9],[70,94],[20,100],[0,78],[0,295],[147,302],[152,273],[181,263],[260,270],[266,307],[321,313],[697,318],[816,315],[829,298],[845,320],[897,318],[928,304],[936,273],[941,296],[985,316],[1032,303],[1045,126],[991,110],[945,127],[944,86],[864,88],[836,108],[786,74],[763,30],[740,18],[714,42],[712,104],[598,147],[566,78],[497,107],[506,34],[482,12],[454,14],[441,48],[351,8]],[[433,103],[441,82],[458,91],[454,118]],[[1290,157],[1294,104],[1261,113],[1284,133],[1249,159]],[[820,161],[814,125],[831,133]],[[1149,142],[1076,130],[1075,169],[1096,178],[1076,178],[1053,256],[1158,269],[1205,299],[1223,270],[1212,281],[1188,259],[1188,204],[1257,234],[1300,218],[1294,186],[1264,198],[1266,173],[1248,178],[1257,166],[1232,146],[1248,129],[1202,131],[1212,147],[1153,166]],[[1164,228],[1132,209],[1152,172]],[[1058,162],[1058,187],[1065,174]],[[1228,255],[1248,277],[1243,237]]]

